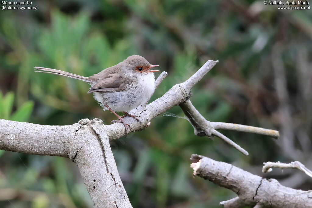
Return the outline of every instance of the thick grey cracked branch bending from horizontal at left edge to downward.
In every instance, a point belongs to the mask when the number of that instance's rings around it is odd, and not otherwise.
[[[131,207],[100,119],[68,126],[0,119],[0,149],[68,157],[76,162],[95,207]]]

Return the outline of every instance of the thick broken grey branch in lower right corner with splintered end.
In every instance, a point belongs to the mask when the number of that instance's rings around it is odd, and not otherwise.
[[[296,190],[266,180],[225,162],[193,154],[193,175],[234,191],[237,197],[222,202],[226,207],[256,206],[272,208],[312,207],[312,191]],[[233,206],[231,206],[233,203]],[[241,206],[238,206],[238,205]]]

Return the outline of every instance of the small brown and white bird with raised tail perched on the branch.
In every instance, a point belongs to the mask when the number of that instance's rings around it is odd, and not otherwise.
[[[113,120],[112,123],[122,123],[127,132],[129,124],[125,123],[123,118],[130,116],[139,121],[128,112],[147,102],[154,93],[154,72],[159,70],[151,69],[156,66],[159,65],[151,65],[142,56],[132,55],[89,77],[40,66],[34,68],[36,72],[71,77],[89,83],[90,89],[87,93],[93,93],[103,110],[110,110],[115,114],[118,120]],[[123,112],[124,115],[119,116],[116,112]]]

